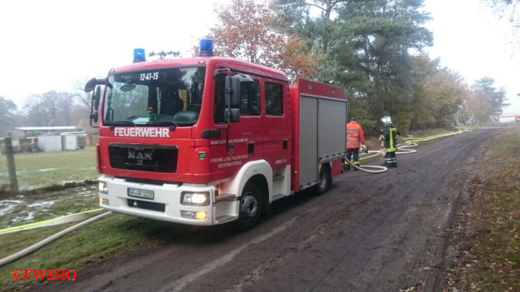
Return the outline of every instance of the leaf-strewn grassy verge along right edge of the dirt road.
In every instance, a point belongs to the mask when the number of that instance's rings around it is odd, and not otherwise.
[[[454,225],[447,291],[520,291],[520,127],[497,131]]]

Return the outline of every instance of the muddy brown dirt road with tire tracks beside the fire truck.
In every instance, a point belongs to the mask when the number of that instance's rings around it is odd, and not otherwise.
[[[249,232],[172,226],[172,240],[78,271],[75,291],[439,291],[472,162],[495,130],[434,140],[384,174],[346,172],[276,203]],[[382,162],[380,161],[377,163]],[[150,221],[153,223],[153,221]],[[61,285],[61,286],[60,286]]]

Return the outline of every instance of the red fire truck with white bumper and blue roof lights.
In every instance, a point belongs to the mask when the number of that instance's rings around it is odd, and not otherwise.
[[[273,201],[341,173],[344,89],[213,57],[134,63],[93,78],[100,206],[193,225],[255,226]],[[104,92],[101,94],[101,87]]]

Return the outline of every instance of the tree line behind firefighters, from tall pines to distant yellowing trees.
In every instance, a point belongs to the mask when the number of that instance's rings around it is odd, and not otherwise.
[[[433,42],[423,2],[275,0],[272,22],[283,27],[280,33],[297,37],[298,51],[314,56],[316,73],[304,77],[348,89],[348,115],[357,116],[368,134],[377,134],[384,115],[406,133],[500,114],[505,93],[492,80],[469,89],[422,53]]]

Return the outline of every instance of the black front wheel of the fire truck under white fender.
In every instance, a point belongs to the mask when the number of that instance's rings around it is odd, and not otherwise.
[[[238,219],[235,221],[238,230],[249,230],[260,222],[260,216],[262,215],[262,196],[255,184],[248,183],[244,187],[244,190],[242,190],[238,213]]]

